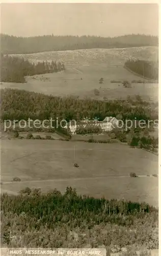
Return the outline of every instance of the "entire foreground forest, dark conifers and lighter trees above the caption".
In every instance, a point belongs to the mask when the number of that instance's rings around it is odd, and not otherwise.
[[[64,194],[26,187],[18,196],[1,196],[1,245],[103,246],[107,255],[122,247],[158,248],[158,210],[146,203],[80,196],[71,187]]]

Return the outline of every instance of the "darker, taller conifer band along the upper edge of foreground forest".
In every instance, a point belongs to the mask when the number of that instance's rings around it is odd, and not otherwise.
[[[4,214],[10,211],[18,215],[25,212],[31,218],[41,219],[39,227],[41,224],[45,225],[47,223],[48,228],[52,228],[50,222],[55,224],[60,221],[68,223],[71,219],[75,220],[75,225],[82,225],[79,218],[84,219],[85,222],[91,219],[89,228],[92,223],[99,224],[109,220],[111,220],[111,223],[119,225],[130,225],[130,223],[124,222],[122,217],[157,212],[155,207],[145,202],[137,203],[125,200],[96,199],[86,195],[80,196],[72,187],[67,187],[64,195],[57,189],[43,194],[40,188],[32,190],[26,187],[20,190],[19,196],[16,197],[3,194],[1,207]],[[66,215],[68,218],[64,218]],[[56,218],[53,218],[54,216]],[[119,218],[114,218],[115,216]],[[70,222],[71,227],[74,226],[74,223]]]

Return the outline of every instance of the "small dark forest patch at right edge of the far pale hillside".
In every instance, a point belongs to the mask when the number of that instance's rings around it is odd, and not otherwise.
[[[137,73],[143,78],[154,79],[158,81],[158,62],[150,62],[145,60],[127,60],[124,67]]]

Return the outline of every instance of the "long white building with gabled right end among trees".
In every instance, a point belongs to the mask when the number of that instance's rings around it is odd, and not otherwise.
[[[117,118],[105,117],[103,121],[95,122],[94,120],[89,120],[87,123],[85,123],[85,121],[74,122],[72,120],[64,128],[65,129],[69,128],[71,134],[74,135],[76,134],[76,130],[81,127],[86,128],[90,126],[99,126],[102,132],[108,132],[108,131],[112,131],[115,127],[118,127],[118,125],[119,125],[119,120]]]

